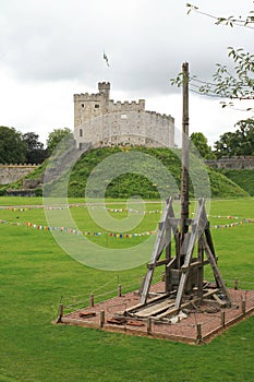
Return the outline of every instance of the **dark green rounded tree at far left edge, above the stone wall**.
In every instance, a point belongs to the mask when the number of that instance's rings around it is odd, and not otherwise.
[[[14,128],[0,127],[0,163],[24,164],[26,162],[26,145],[22,133]]]

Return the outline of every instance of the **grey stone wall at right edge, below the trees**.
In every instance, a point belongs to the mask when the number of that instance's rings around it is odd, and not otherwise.
[[[227,170],[254,169],[254,156],[232,156],[204,162],[211,168],[225,168]]]

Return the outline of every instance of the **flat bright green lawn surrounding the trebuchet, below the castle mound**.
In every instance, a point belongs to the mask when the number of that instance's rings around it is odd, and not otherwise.
[[[213,201],[211,226],[233,222],[219,215],[254,218],[253,202],[254,199]],[[0,199],[0,205],[39,203],[39,199]],[[117,202],[111,206],[121,207]],[[147,204],[150,211],[159,207],[159,204]],[[74,207],[72,214],[80,229],[99,228],[84,207]],[[125,214],[114,216],[121,219]],[[154,229],[159,215],[145,215],[134,231]],[[52,325],[60,300],[87,301],[90,291],[95,296],[108,293],[96,297],[108,298],[116,295],[119,280],[124,290],[130,290],[132,285],[138,286],[145,265],[130,271],[102,272],[75,262],[57,246],[49,231],[24,225],[25,222],[45,225],[41,208],[0,210],[0,219],[9,222],[0,225],[0,381],[231,382],[254,379],[254,318],[199,347]],[[253,225],[211,230],[219,267],[228,285],[239,278],[240,287],[254,288]],[[92,240],[119,248],[144,240],[142,237],[105,238],[105,241],[101,237],[92,237]]]

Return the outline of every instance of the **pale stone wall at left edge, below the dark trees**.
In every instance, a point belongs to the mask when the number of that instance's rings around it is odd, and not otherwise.
[[[0,164],[0,184],[8,184],[25,177],[34,171],[36,165],[1,165]]]

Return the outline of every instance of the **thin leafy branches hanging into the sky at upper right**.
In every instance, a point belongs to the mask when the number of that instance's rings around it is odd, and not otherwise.
[[[211,14],[199,11],[197,7],[190,3],[188,3],[186,7],[189,9],[188,13],[195,11],[215,19],[215,24],[217,25],[225,24],[231,27],[237,25],[254,28],[254,11],[251,11],[246,17],[216,17]],[[228,57],[233,61],[233,73],[229,71],[227,65],[217,63],[216,71],[210,82],[202,81],[195,75],[190,76],[190,89],[192,92],[210,97],[221,97],[228,99],[229,102],[221,102],[222,107],[233,106],[233,99],[254,99],[254,55],[251,52],[245,52],[242,48],[235,49],[233,47],[229,47]],[[180,87],[182,86],[182,73],[179,73],[177,77],[170,79],[170,82],[171,85],[177,85]],[[247,110],[253,110],[253,107],[249,107]]]

